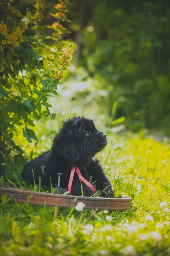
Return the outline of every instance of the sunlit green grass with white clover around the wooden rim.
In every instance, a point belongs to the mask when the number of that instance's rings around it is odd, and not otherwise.
[[[97,154],[115,196],[131,196],[132,209],[78,212],[10,203],[3,196],[0,255],[170,255],[170,145],[142,137],[110,134]],[[39,150],[48,149],[43,141]]]

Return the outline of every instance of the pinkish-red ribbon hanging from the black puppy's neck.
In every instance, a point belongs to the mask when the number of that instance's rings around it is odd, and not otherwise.
[[[71,164],[72,164],[72,163],[71,163]],[[82,182],[84,182],[89,188],[91,188],[94,193],[96,193],[95,187],[94,187],[88,180],[86,180],[85,178],[82,177],[79,168],[78,168],[77,166],[74,166],[74,164],[72,164],[72,165],[73,165],[73,167],[72,167],[72,169],[71,169],[70,179],[69,179],[69,182],[68,182],[68,191],[70,192],[69,195],[71,195],[71,186],[72,186],[72,183],[73,183],[73,178],[74,178],[75,170],[76,170],[76,172],[77,172],[77,175],[79,176],[79,179],[80,179]]]

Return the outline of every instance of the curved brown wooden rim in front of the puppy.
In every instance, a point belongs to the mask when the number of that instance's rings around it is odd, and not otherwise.
[[[47,206],[73,207],[78,202],[85,204],[84,209],[108,209],[111,211],[125,210],[131,208],[132,198],[122,196],[121,198],[91,198],[74,195],[58,195],[43,192],[26,191],[23,189],[0,187],[0,196],[7,195],[11,201],[18,203],[45,204]]]

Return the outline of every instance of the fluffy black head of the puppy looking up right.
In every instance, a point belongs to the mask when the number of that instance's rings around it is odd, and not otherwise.
[[[54,149],[69,161],[90,160],[107,145],[106,134],[95,128],[85,117],[74,117],[63,122],[54,138]]]

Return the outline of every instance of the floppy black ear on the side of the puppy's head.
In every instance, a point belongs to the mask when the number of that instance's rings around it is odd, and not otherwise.
[[[79,160],[79,151],[77,144],[71,140],[64,141],[58,136],[54,138],[53,147],[55,150],[61,154],[63,157],[67,158],[69,161],[76,162]]]

